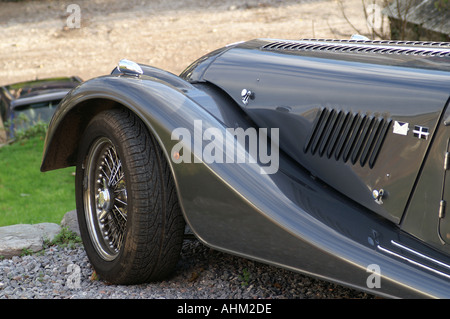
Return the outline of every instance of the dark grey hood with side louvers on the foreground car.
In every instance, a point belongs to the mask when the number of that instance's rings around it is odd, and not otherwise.
[[[219,87],[259,127],[279,128],[280,148],[312,175],[398,223],[448,103],[450,47],[257,39],[182,76]]]

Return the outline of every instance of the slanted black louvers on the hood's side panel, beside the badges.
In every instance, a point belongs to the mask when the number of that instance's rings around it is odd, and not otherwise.
[[[383,117],[324,108],[304,152],[373,168],[390,124]]]

